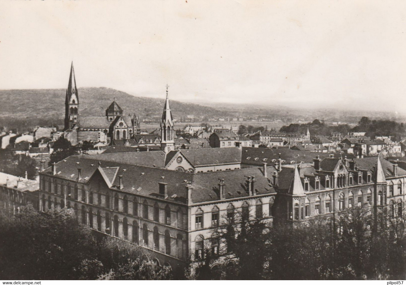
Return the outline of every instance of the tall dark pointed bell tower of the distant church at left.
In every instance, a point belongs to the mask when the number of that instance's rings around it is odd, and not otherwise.
[[[65,130],[71,129],[78,122],[78,109],[79,96],[78,89],[76,89],[76,78],[72,61],[65,97]]]

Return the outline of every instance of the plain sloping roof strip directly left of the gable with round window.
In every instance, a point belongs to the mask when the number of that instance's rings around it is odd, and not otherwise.
[[[133,149],[135,149],[133,147]],[[107,151],[107,150],[106,150]],[[165,167],[165,153],[163,151],[140,151],[128,153],[100,153],[86,155],[90,159],[122,162],[150,167]]]

